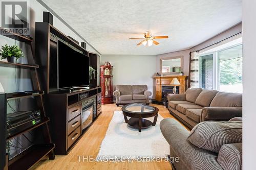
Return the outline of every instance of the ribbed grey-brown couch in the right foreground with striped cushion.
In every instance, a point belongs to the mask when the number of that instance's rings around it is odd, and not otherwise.
[[[165,118],[160,129],[170,145],[170,160],[177,170],[242,170],[242,118],[229,122],[206,121],[190,132],[177,120]]]

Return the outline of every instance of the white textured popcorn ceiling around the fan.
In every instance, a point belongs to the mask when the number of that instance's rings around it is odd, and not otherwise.
[[[195,46],[242,19],[241,0],[43,0],[102,55],[163,54]],[[136,46],[145,31],[159,45]]]

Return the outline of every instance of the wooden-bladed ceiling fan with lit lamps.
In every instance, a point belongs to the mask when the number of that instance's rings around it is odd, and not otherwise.
[[[159,42],[157,42],[155,39],[160,39],[160,38],[169,38],[167,35],[165,36],[155,36],[153,37],[151,35],[150,31],[147,31],[146,33],[144,33],[144,38],[129,38],[129,39],[143,39],[142,41],[140,41],[137,45],[143,44],[144,46],[151,46],[153,43],[155,45],[158,45]]]

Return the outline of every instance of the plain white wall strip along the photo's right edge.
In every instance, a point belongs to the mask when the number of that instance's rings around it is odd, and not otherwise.
[[[243,1],[243,169],[256,169],[256,1]]]

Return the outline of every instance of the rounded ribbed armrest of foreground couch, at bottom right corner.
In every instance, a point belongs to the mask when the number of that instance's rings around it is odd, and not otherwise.
[[[223,169],[242,169],[242,143],[223,144],[217,161]]]

